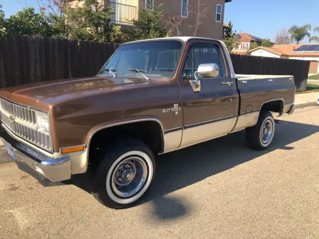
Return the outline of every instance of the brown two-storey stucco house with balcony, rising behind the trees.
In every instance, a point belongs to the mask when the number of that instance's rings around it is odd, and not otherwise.
[[[112,21],[122,25],[123,28],[132,25],[132,19],[138,19],[139,9],[152,9],[152,6],[163,4],[162,8],[165,17],[175,16],[183,18],[182,24],[179,26],[181,36],[192,36],[194,33],[194,25],[198,12],[197,0],[100,0],[106,7],[112,7],[114,13],[111,16]],[[224,9],[225,3],[232,0],[209,0],[203,6],[206,9],[205,16],[200,18],[196,36],[208,37],[215,39],[223,39],[224,27]],[[76,7],[81,6],[84,0],[68,0],[68,2]],[[171,26],[167,26],[171,27]]]

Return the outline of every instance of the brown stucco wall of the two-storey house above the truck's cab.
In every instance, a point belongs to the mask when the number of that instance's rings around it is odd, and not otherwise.
[[[154,0],[155,5],[163,3],[163,10],[165,12],[164,17],[167,19],[168,16],[174,16],[176,19],[180,18],[181,13],[181,0]],[[179,27],[181,36],[193,36],[195,27],[189,27],[196,23],[197,14],[192,12],[198,12],[197,0],[188,0],[188,16]],[[222,5],[222,16],[221,21],[216,22],[216,5]],[[231,2],[227,3],[231,4]],[[227,7],[226,4],[226,7]],[[140,6],[145,8],[145,0],[140,0]],[[202,24],[199,25],[196,36],[208,37],[221,40],[223,38],[223,20],[225,12],[225,0],[208,0],[206,1],[205,7],[207,8],[206,15],[200,18]]]

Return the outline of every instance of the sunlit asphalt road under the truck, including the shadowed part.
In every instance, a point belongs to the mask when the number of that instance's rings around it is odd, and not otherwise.
[[[282,119],[266,151],[238,132],[159,156],[149,194],[124,210],[95,201],[85,175],[43,187],[1,164],[0,238],[319,239],[319,107]]]

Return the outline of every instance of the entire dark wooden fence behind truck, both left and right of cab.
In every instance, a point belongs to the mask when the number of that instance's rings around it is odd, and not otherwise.
[[[94,76],[117,43],[40,36],[0,40],[0,88],[63,78]],[[306,90],[310,62],[231,55],[237,74],[293,75],[298,91]]]

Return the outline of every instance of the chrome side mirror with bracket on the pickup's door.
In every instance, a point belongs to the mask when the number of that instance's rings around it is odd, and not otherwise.
[[[200,91],[200,79],[198,78],[214,78],[219,75],[219,67],[215,63],[200,64],[194,73],[195,80],[190,80],[189,84],[193,92]]]

